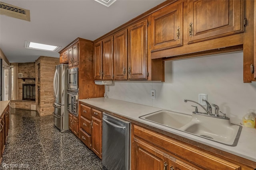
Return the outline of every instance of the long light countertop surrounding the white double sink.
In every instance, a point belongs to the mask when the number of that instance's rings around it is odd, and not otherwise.
[[[145,106],[110,98],[91,98],[82,99],[79,101],[256,162],[256,129],[254,128],[248,128],[243,126],[240,138],[238,140],[238,144],[235,147],[231,147],[139,118],[142,115],[163,110],[161,108]]]

